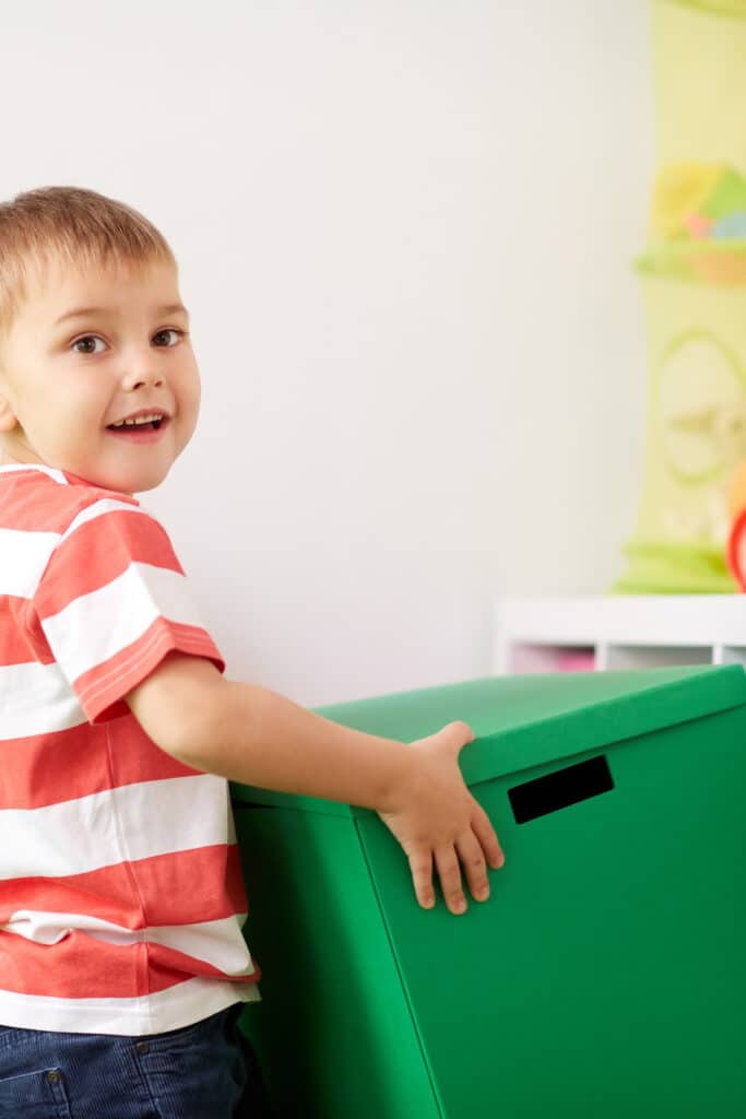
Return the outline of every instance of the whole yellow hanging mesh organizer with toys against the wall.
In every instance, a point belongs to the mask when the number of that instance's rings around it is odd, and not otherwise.
[[[746,460],[746,0],[650,0],[657,163],[643,492],[627,594],[733,593],[728,483]]]

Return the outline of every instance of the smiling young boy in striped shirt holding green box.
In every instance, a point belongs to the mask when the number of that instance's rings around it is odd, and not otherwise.
[[[2,1115],[264,1113],[228,779],[377,810],[425,908],[503,863],[466,725],[405,745],[223,675],[134,497],[198,408],[162,235],[78,188],[0,205]]]

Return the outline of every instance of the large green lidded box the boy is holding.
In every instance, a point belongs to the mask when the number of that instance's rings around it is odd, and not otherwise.
[[[234,786],[280,1116],[746,1115],[746,676],[503,677],[322,709],[414,741],[463,718],[506,866],[417,905],[376,814]]]

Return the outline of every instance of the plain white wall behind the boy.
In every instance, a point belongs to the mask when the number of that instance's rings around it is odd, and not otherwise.
[[[495,592],[602,591],[640,482],[644,0],[6,6],[0,196],[172,243],[204,378],[159,490],[228,675],[484,675]]]

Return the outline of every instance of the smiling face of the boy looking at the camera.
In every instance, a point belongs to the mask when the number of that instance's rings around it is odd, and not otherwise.
[[[123,493],[158,486],[199,412],[180,303],[176,269],[161,262],[31,269],[0,341],[0,462],[45,463]],[[68,318],[85,308],[96,310]],[[110,429],[143,410],[168,419],[157,431]]]

